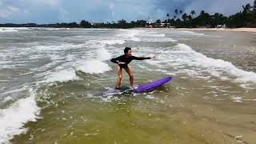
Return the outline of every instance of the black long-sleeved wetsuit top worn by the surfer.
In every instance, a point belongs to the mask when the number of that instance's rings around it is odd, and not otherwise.
[[[132,61],[132,60],[144,60],[144,59],[150,59],[150,57],[147,58],[140,58],[140,57],[135,57],[135,56],[130,56],[130,57],[126,57],[125,54],[121,55],[118,58],[112,58],[110,61],[114,62],[114,63],[118,63],[118,62],[125,62],[126,64],[119,64],[119,66],[121,68],[126,68],[127,65]]]

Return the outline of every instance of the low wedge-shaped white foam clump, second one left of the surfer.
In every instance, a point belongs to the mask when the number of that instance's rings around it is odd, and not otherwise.
[[[46,75],[45,80],[42,82],[68,82],[79,79],[80,78],[75,74],[75,71],[70,68],[67,70],[58,70],[50,75]]]

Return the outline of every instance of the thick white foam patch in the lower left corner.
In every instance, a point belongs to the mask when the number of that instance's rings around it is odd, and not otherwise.
[[[35,122],[40,108],[30,90],[30,97],[19,99],[7,109],[0,110],[0,143],[7,143],[14,135],[26,133],[26,122]]]

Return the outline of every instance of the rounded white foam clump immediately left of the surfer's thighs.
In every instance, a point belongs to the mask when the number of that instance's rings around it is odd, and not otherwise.
[[[101,60],[80,62],[80,66],[77,66],[77,69],[89,74],[102,74],[111,70],[110,66]]]

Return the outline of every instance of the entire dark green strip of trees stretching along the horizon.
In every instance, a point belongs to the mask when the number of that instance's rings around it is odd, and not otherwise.
[[[91,23],[86,20],[82,20],[79,24],[76,22],[71,23],[55,23],[55,24],[42,24],[26,23],[26,24],[13,24],[6,23],[0,24],[0,27],[67,27],[67,28],[134,28],[134,27],[169,27],[174,26],[177,28],[195,28],[195,27],[215,27],[217,25],[225,25],[230,28],[239,27],[256,27],[256,10],[248,3],[246,6],[242,6],[243,10],[237,14],[230,15],[229,17],[223,14],[215,13],[210,15],[206,11],[202,10],[198,16],[195,16],[197,12],[191,10],[190,14],[183,13],[182,10],[174,10],[174,18],[170,19],[170,14],[166,14],[166,20],[163,22],[158,19],[156,22],[147,23],[146,20],[138,20],[126,22],[126,20],[120,20],[118,22],[100,22]]]

